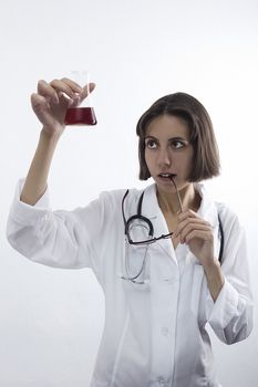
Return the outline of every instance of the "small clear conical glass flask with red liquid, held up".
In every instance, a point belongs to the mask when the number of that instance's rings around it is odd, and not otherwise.
[[[93,84],[90,82],[89,72],[72,71],[70,77],[82,87],[82,92],[78,95],[78,100],[69,106],[64,118],[65,125],[96,125],[91,96]]]

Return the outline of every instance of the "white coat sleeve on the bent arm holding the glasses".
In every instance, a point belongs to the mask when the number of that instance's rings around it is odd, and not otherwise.
[[[213,301],[207,291],[207,321],[218,338],[234,344],[247,338],[252,330],[252,295],[250,290],[246,234],[236,216],[224,210],[221,220],[225,248],[221,270],[224,286]]]

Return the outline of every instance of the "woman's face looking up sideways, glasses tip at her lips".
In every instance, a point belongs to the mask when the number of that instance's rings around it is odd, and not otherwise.
[[[145,160],[157,188],[171,192],[173,184],[165,174],[174,174],[178,189],[190,182],[187,178],[193,165],[194,148],[189,143],[187,124],[172,115],[154,118],[145,136]]]

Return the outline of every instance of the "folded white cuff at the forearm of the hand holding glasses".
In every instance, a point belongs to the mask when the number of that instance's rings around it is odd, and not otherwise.
[[[236,315],[239,295],[236,289],[225,279],[225,283],[214,302],[210,293],[207,295],[206,315],[213,327],[225,328]]]

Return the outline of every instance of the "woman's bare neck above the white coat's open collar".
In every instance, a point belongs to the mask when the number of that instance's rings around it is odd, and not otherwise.
[[[190,208],[194,211],[197,211],[200,205],[200,197],[198,192],[195,191],[194,185],[189,184],[178,190],[178,192],[183,203],[183,209]],[[180,211],[177,194],[173,191],[173,187],[172,192],[164,192],[157,188],[157,201],[164,213],[169,212],[176,215]]]

